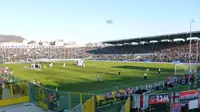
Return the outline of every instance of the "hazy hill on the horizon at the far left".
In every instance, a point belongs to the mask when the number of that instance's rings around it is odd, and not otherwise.
[[[0,34],[0,42],[22,42],[23,40],[24,38],[20,36]]]

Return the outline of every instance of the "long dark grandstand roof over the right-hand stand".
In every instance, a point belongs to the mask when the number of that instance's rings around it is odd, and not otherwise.
[[[140,43],[140,42],[150,42],[150,41],[158,41],[161,40],[174,40],[174,39],[184,39],[190,37],[190,32],[183,32],[183,33],[173,33],[173,34],[165,34],[165,35],[155,35],[155,36],[146,36],[146,37],[136,37],[130,39],[121,39],[121,40],[111,40],[111,41],[104,41],[104,44],[125,44],[125,43]],[[192,37],[200,37],[200,31],[193,31]]]

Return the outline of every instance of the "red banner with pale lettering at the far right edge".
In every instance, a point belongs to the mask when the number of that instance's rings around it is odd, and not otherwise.
[[[180,102],[189,103],[192,100],[198,100],[198,90],[183,91],[180,92]]]

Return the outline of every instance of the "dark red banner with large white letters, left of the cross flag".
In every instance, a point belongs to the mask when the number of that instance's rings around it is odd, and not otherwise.
[[[149,96],[149,104],[169,103],[170,94],[157,94]]]

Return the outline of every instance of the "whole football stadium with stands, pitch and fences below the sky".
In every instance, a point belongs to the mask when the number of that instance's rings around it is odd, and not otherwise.
[[[200,31],[191,34],[87,46],[2,43],[0,111],[197,111]]]

